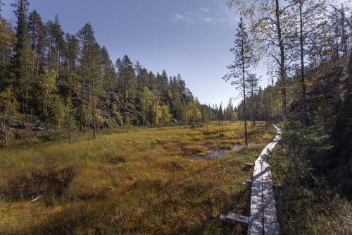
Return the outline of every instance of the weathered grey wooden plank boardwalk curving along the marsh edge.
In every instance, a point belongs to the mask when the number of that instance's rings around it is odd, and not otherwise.
[[[275,196],[272,188],[271,171],[268,162],[263,157],[268,155],[281,139],[281,130],[273,125],[277,130],[277,135],[254,162],[253,179],[251,181],[251,215],[244,217],[229,212],[228,215],[220,215],[220,219],[234,219],[237,224],[248,223],[248,234],[251,235],[271,235],[279,234],[279,223],[277,223]],[[247,182],[248,183],[248,182]]]

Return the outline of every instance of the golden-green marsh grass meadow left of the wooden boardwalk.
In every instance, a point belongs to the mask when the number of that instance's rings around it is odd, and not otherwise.
[[[243,125],[242,125],[243,126]],[[1,234],[224,234],[220,214],[249,215],[248,187],[265,143],[201,160],[206,143],[242,143],[240,123],[128,128],[74,143],[33,140],[0,149]],[[263,127],[249,138],[261,138]],[[31,202],[33,198],[42,196]]]

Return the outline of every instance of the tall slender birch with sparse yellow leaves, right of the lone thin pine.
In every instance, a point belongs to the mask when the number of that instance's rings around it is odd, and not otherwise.
[[[278,75],[282,91],[282,117],[287,119],[286,70],[289,62],[286,57],[286,36],[291,32],[295,20],[291,20],[292,6],[287,3],[279,5],[279,0],[228,0],[229,7],[237,7],[237,11],[250,21],[251,35],[255,44],[256,63],[264,55],[272,58],[269,66],[279,68]]]

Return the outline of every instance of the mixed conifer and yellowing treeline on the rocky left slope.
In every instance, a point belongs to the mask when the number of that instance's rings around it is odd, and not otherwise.
[[[27,0],[11,4],[15,27],[0,17],[1,132],[6,140],[18,119],[25,127],[37,119],[46,126],[89,127],[95,136],[103,125],[214,118],[213,109],[194,98],[180,74],[153,73],[127,55],[114,64],[90,23],[71,35],[63,32],[58,16],[43,23],[29,5]]]

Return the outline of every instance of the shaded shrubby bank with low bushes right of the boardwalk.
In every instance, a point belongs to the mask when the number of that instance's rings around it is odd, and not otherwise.
[[[287,120],[268,161],[281,234],[352,234],[351,176],[328,168],[327,135]],[[340,173],[340,174],[337,174]]]

